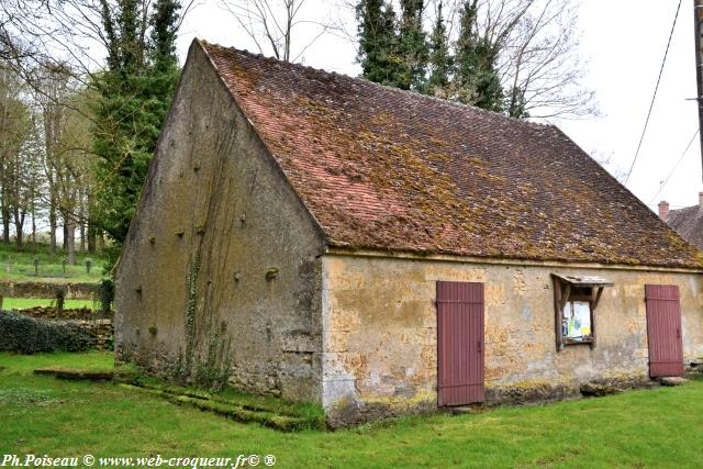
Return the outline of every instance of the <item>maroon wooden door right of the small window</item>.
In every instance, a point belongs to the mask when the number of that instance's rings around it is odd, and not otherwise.
[[[646,284],[649,376],[682,376],[681,305],[679,287]]]

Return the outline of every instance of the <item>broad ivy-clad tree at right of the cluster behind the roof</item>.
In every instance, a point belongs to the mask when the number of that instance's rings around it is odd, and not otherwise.
[[[499,44],[481,37],[477,25],[478,0],[464,3],[456,43],[454,98],[489,111],[503,111],[503,89],[495,70]]]

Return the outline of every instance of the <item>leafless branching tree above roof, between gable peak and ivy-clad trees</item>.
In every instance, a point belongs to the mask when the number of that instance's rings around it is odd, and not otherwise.
[[[299,62],[315,41],[332,29],[319,12],[303,10],[308,0],[220,0],[264,55]],[[298,26],[306,25],[300,29]],[[300,45],[293,47],[294,42]],[[292,51],[292,52],[291,52]]]

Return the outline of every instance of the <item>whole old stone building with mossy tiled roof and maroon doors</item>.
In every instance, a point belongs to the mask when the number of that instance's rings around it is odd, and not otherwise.
[[[335,425],[560,398],[703,356],[702,272],[555,126],[196,41],[116,354]]]

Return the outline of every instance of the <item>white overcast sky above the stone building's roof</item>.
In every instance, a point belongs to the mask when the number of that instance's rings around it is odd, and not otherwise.
[[[589,154],[609,159],[611,172],[626,172],[635,156],[677,5],[677,0],[581,1],[581,55],[590,59],[584,85],[595,90],[602,116],[554,123]],[[354,31],[353,16],[345,16],[330,0],[308,0],[305,8],[309,18],[346,19],[348,31]],[[317,33],[316,26],[305,27],[309,37]],[[258,52],[216,0],[205,0],[187,16],[179,38],[181,58],[196,36]],[[683,0],[649,126],[627,182],[652,210],[661,199],[672,209],[698,204],[703,190],[696,137],[657,196],[699,125],[695,102],[687,100],[696,92],[693,37],[693,5]],[[327,34],[301,58],[315,68],[357,76],[355,57],[352,43]]]

